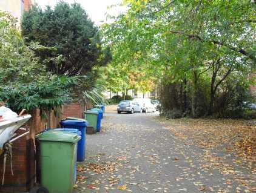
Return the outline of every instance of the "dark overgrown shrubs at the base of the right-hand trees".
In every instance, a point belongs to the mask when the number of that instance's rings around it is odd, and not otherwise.
[[[209,89],[207,84],[203,83],[197,91],[192,90],[191,87],[184,87],[183,83],[166,83],[161,87],[160,102],[161,116],[170,119],[181,117],[256,119],[256,110],[250,108],[250,103],[255,103],[255,98],[251,96],[247,87],[238,82],[235,85],[223,85],[217,91],[212,114],[209,114]]]

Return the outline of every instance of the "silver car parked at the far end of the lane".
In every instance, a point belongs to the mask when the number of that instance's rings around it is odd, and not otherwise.
[[[132,100],[122,100],[116,110],[118,114],[121,112],[128,112],[132,114],[135,112],[142,112],[140,105]]]

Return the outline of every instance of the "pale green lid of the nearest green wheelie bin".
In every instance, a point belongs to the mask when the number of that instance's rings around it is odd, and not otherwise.
[[[72,132],[55,131],[51,129],[36,135],[36,138],[42,141],[76,143],[81,139],[81,136]]]

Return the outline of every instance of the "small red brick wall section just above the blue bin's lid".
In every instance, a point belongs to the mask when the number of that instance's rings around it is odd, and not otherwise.
[[[62,107],[61,119],[67,117],[84,118],[84,102],[70,102],[65,103]]]

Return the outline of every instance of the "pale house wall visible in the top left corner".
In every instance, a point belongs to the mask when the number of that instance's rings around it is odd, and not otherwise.
[[[0,10],[11,13],[18,19],[19,24],[24,10],[29,10],[33,4],[35,4],[35,0],[1,0]]]

